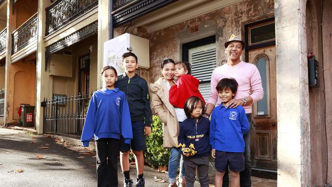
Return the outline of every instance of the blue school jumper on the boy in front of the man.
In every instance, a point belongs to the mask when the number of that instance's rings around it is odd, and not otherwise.
[[[249,122],[242,106],[217,106],[211,113],[210,145],[225,152],[244,152],[243,135],[249,131]]]

